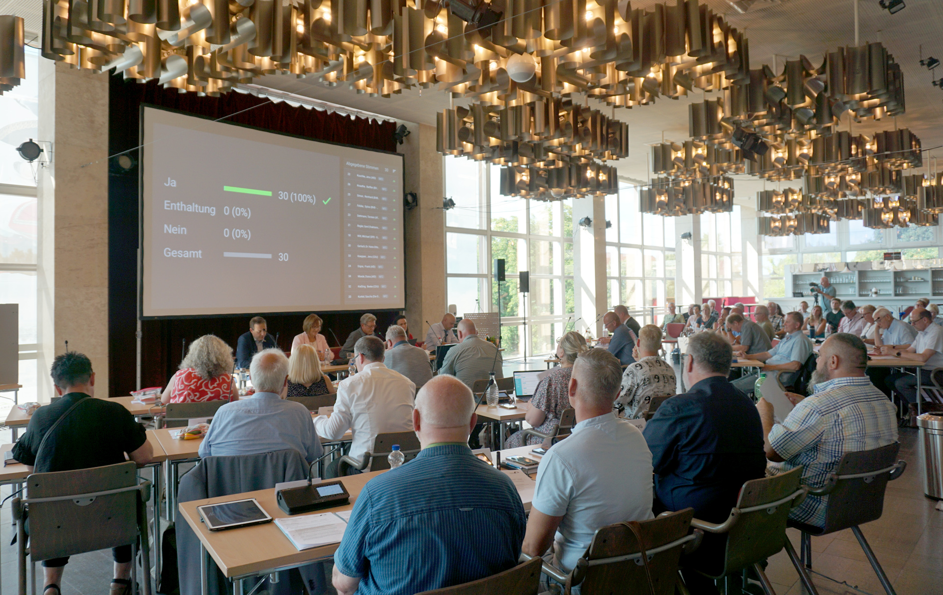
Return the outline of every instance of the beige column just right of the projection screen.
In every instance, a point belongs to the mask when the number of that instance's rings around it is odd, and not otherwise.
[[[442,210],[442,156],[436,126],[402,123],[411,134],[399,146],[405,157],[404,191],[419,205],[405,212],[406,319],[412,336],[425,338],[425,321],[438,322],[446,308],[445,211]]]

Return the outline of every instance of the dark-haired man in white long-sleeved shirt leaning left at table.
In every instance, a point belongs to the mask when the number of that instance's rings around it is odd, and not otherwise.
[[[352,458],[363,460],[373,450],[377,434],[408,432],[413,429],[413,395],[416,385],[400,372],[383,364],[383,341],[377,337],[362,337],[354,345],[354,363],[357,373],[338,385],[338,399],[330,416],[318,416],[314,429],[318,436],[339,440],[348,429],[353,440]],[[325,478],[356,473],[347,465],[341,468],[340,459],[324,470]]]

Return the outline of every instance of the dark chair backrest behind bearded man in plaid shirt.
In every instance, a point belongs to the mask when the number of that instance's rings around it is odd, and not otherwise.
[[[841,457],[835,469],[835,488],[826,496],[823,533],[841,531],[881,518],[890,472],[870,477],[841,477],[887,469],[897,462],[900,450],[901,443],[894,442],[870,451],[846,453]]]

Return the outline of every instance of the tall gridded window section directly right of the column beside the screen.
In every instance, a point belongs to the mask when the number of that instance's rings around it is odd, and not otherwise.
[[[459,316],[500,311],[505,359],[554,351],[575,305],[572,202],[502,196],[498,166],[443,158],[445,196],[455,201],[445,214],[448,303]],[[501,284],[492,283],[495,258],[505,259]],[[526,294],[521,271],[530,273]]]

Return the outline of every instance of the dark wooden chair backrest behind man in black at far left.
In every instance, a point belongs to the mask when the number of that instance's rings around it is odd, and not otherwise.
[[[140,532],[138,489],[93,498],[35,502],[138,485],[137,465],[126,461],[75,471],[33,473],[26,479],[29,547],[33,560],[84,554],[134,542]],[[146,525],[145,525],[146,527]],[[146,528],[144,529],[146,531]],[[146,535],[144,539],[147,539]]]

